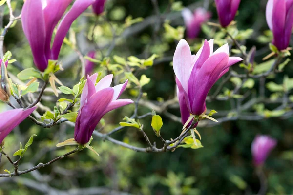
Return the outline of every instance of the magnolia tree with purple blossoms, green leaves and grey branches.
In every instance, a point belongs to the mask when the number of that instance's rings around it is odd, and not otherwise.
[[[154,24],[153,40],[161,39],[162,44],[156,45],[155,41],[150,40],[147,48],[152,47],[157,52],[150,53],[146,48],[148,51],[144,59],[143,56],[119,55],[115,48],[127,36],[149,25],[149,21],[129,16],[124,24],[111,22],[104,11],[106,0],[24,0],[21,14],[17,16],[13,1],[0,1],[3,10],[6,9],[10,16],[0,36],[0,99],[11,107],[0,113],[0,152],[1,157],[5,156],[12,166],[5,165],[7,173],[0,174],[0,177],[20,176],[54,166],[53,163],[63,157],[79,155],[86,149],[99,156],[99,145],[95,149],[92,147],[98,139],[111,143],[113,147],[122,146],[121,152],[124,147],[136,152],[170,153],[182,147],[185,150],[199,149],[199,153],[204,153],[206,137],[201,137],[200,131],[204,131],[206,126],[238,119],[287,118],[293,113],[293,96],[290,95],[293,79],[285,76],[283,84],[267,82],[267,78],[282,72],[290,61],[292,0],[268,0],[266,20],[270,30],[259,40],[269,45],[271,51],[262,49],[260,52],[256,47],[245,46],[246,40],[253,36],[253,30],[237,29],[234,17],[240,0],[206,0],[196,3],[194,12],[170,0],[164,13],[161,13],[158,1],[151,0],[156,13],[155,20],[151,20]],[[211,6],[216,7],[218,20],[210,20]],[[185,25],[171,26],[172,18],[169,16],[172,13],[181,13],[176,17],[182,17]],[[87,23],[87,20],[93,20],[94,25]],[[29,44],[29,56],[32,56],[26,60],[34,64],[34,67],[26,69],[17,63],[17,54],[5,51],[3,47],[9,29],[20,21],[23,30],[20,33],[25,35],[24,41]],[[101,29],[105,31],[104,37],[101,36]],[[159,34],[160,31],[163,33]],[[198,38],[200,33],[206,39]],[[169,51],[168,44],[172,43],[177,45],[175,51]],[[64,83],[59,77],[70,69],[72,62],[64,61],[60,54],[64,56],[72,51],[77,56],[71,59],[78,64],[75,67],[77,74]],[[255,55],[262,55],[262,61],[255,61]],[[175,95],[170,99],[147,100],[144,86],[151,79],[144,72],[162,61],[170,62],[173,67]],[[7,71],[9,66],[17,67],[18,74]],[[257,91],[253,90],[256,85]],[[270,97],[265,96],[266,90],[272,92]],[[209,104],[213,101],[230,101],[231,108],[221,111],[221,106]],[[278,104],[278,107],[267,109],[266,105],[272,103]],[[130,114],[119,118],[119,124],[103,119],[108,112],[120,107],[125,107]],[[178,115],[169,112],[169,108],[175,108]],[[142,113],[140,109],[144,111],[142,115],[139,115]],[[182,129],[176,131],[177,137],[164,136],[164,132],[171,129],[164,128],[160,115],[182,124]],[[153,131],[146,129],[149,124],[140,122],[147,117],[151,118]],[[6,144],[4,140],[26,118],[43,129],[59,125],[73,127],[74,132],[68,132],[65,136],[67,140],[54,143],[56,147],[65,147],[67,152],[45,163],[34,159],[35,164],[20,170],[22,158],[31,157],[26,155],[26,151],[33,147],[36,135],[29,135],[27,143],[20,144],[13,154],[16,157],[5,151],[15,148],[17,141]],[[117,132],[127,128],[136,129],[144,137],[139,147],[131,144],[129,139],[121,141],[113,138]],[[150,134],[159,137],[162,147],[149,138]],[[261,183],[260,194],[266,193],[262,165],[276,144],[274,138],[258,135],[251,145],[253,163]],[[52,150],[56,147],[52,146]]]

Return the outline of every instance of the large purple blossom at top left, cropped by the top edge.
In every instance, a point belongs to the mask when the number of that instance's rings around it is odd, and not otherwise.
[[[76,0],[61,20],[66,8],[73,0],[26,0],[21,11],[23,32],[30,44],[35,65],[40,71],[48,66],[48,60],[57,60],[71,24],[95,0]],[[56,36],[51,47],[53,31],[57,23]]]

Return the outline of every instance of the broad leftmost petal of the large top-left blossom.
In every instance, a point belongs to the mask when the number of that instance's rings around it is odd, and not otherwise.
[[[27,38],[34,57],[34,62],[40,71],[48,66],[45,55],[45,20],[41,0],[26,0],[21,11],[23,32]]]

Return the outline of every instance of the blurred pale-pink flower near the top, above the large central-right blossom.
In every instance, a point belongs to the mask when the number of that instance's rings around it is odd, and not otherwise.
[[[194,39],[200,33],[201,25],[210,19],[211,13],[204,8],[197,8],[192,14],[188,8],[184,8],[182,10],[182,16],[187,29],[188,38]]]

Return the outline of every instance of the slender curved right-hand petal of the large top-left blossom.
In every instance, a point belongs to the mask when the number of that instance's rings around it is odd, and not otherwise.
[[[59,52],[71,24],[87,9],[95,0],[76,0],[71,9],[64,16],[57,28],[57,33],[52,46],[52,58],[58,59]]]

